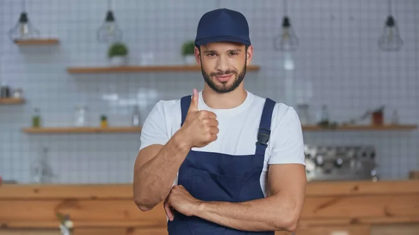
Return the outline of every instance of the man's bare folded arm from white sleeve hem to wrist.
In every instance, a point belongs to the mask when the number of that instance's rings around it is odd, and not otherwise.
[[[247,202],[200,202],[194,216],[243,231],[294,231],[304,204],[302,164],[269,166],[270,196]]]

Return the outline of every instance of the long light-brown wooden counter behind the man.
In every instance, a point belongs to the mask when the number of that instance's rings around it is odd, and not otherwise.
[[[77,235],[167,234],[163,206],[140,211],[131,185],[0,186],[1,235],[58,234],[56,212],[71,215]],[[418,180],[315,182],[307,185],[297,234],[419,234],[418,225]]]

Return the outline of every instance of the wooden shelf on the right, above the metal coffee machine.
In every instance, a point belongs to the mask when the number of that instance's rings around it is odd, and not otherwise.
[[[417,125],[384,125],[384,126],[337,126],[322,128],[320,126],[302,126],[304,131],[342,131],[342,130],[415,130]]]

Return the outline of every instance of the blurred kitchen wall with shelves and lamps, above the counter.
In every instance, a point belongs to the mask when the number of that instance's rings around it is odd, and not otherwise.
[[[131,183],[152,107],[203,89],[215,8],[247,17],[245,87],[297,110],[309,181],[418,177],[417,0],[1,0],[3,183]]]

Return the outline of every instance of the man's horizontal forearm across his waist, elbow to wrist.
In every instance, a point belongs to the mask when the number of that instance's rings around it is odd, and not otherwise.
[[[195,215],[244,231],[293,231],[299,207],[293,199],[275,195],[249,202],[201,202]]]

